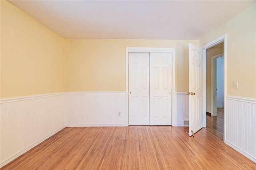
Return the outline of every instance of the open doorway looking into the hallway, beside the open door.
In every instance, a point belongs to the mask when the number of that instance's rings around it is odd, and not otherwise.
[[[224,136],[224,43],[206,50],[206,130]]]

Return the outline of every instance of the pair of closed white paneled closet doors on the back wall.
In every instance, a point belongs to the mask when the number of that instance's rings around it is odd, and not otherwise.
[[[129,125],[172,125],[172,53],[129,53]]]

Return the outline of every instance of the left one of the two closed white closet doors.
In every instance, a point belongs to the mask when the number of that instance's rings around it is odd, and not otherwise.
[[[149,125],[149,53],[129,53],[129,125]]]

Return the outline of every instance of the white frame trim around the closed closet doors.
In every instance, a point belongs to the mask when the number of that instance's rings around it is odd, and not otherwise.
[[[172,117],[176,113],[175,97],[175,48],[126,47],[126,126],[129,126],[129,53],[172,53]],[[173,122],[173,119],[172,119]],[[171,122],[171,123],[172,123]],[[173,124],[173,123],[172,123]]]

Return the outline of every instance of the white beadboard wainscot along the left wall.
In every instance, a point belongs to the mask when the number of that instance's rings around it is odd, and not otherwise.
[[[0,167],[65,127],[65,94],[0,101]]]

